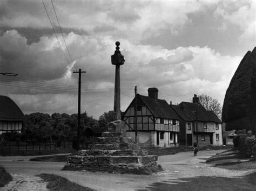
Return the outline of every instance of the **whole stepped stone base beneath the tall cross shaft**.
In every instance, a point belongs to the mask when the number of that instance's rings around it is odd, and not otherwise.
[[[80,150],[67,157],[64,170],[103,171],[109,173],[152,174],[162,170],[157,155],[136,150],[123,131],[103,132],[95,138],[88,150]]]

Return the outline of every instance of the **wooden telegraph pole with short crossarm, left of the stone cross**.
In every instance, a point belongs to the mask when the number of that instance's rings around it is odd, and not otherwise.
[[[81,74],[86,73],[81,69],[78,70],[78,117],[77,117],[77,150],[80,149],[80,117],[81,117]]]

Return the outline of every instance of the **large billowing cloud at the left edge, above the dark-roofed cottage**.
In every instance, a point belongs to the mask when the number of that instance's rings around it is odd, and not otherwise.
[[[1,70],[31,80],[58,79],[70,63],[63,59],[56,43],[54,39],[43,37],[38,44],[28,45],[27,39],[16,30],[6,31],[0,37]]]

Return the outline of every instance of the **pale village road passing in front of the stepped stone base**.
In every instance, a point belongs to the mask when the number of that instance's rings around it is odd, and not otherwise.
[[[205,159],[218,152],[221,152],[221,150],[200,151],[197,157],[194,157],[192,152],[160,156],[159,164],[165,171],[156,175],[61,171],[64,162],[29,161],[29,158],[32,157],[0,157],[0,164],[12,174],[34,176],[41,173],[53,173],[79,185],[96,190],[184,190],[187,188],[188,190],[193,190],[190,185],[187,185],[187,187],[183,186],[186,186],[187,182],[198,181],[193,178],[211,176],[214,178],[233,179],[252,173],[248,171],[231,171],[205,164]],[[174,188],[173,186],[176,187]],[[203,190],[205,187],[201,189]]]

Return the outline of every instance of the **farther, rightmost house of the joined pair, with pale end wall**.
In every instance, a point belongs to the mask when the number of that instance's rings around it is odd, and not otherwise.
[[[203,145],[223,145],[221,121],[213,111],[207,111],[194,95],[193,103],[181,102],[171,107],[180,116],[180,133],[178,142],[192,146],[196,142]]]

